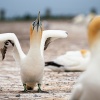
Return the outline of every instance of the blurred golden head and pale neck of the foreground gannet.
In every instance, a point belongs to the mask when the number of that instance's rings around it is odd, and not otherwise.
[[[100,16],[96,16],[88,26],[88,40],[92,56],[100,52]]]

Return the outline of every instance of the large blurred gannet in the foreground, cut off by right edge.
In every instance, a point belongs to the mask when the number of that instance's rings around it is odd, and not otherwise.
[[[100,16],[96,16],[88,25],[88,41],[90,62],[79,77],[71,100],[100,100]]]

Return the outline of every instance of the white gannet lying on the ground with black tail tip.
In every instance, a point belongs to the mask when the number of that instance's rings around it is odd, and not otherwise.
[[[58,56],[54,60],[45,62],[45,66],[57,72],[85,71],[89,59],[89,50],[67,51],[65,54]]]

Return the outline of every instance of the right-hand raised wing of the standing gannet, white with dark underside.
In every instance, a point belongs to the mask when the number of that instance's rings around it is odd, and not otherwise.
[[[48,45],[58,39],[58,38],[66,38],[68,33],[62,30],[45,30],[43,31],[43,40],[44,40],[44,50],[47,49]]]

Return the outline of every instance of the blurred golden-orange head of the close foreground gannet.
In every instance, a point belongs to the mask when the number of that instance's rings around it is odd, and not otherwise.
[[[88,25],[88,41],[90,47],[100,40],[100,16],[96,16]]]

